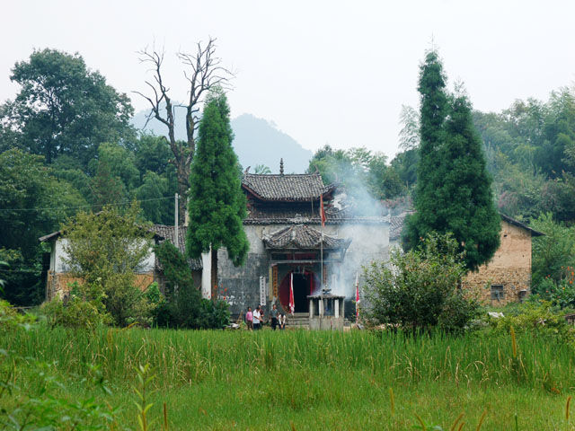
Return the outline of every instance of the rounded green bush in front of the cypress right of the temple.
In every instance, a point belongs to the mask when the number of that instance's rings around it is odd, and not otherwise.
[[[417,249],[395,249],[389,262],[365,268],[367,318],[413,330],[463,330],[475,317],[478,303],[464,298],[458,288],[465,273],[458,249],[449,234],[433,233]]]

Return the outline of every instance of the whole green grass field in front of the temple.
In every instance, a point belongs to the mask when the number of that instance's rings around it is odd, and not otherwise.
[[[49,330],[0,334],[3,373],[36,391],[119,407],[118,422],[137,428],[136,368],[149,364],[148,392],[160,429],[382,429],[426,424],[450,429],[575,429],[566,401],[575,392],[573,350],[556,341],[484,333],[413,339],[367,331]],[[40,363],[40,365],[39,365]],[[93,366],[99,369],[94,370]],[[38,373],[39,366],[43,374]],[[111,393],[94,385],[102,376]],[[391,392],[393,391],[393,400]],[[7,409],[18,400],[4,397]],[[12,404],[12,405],[11,405]],[[80,429],[80,428],[78,428]],[[122,428],[119,428],[122,429]],[[459,428],[456,428],[459,429]]]

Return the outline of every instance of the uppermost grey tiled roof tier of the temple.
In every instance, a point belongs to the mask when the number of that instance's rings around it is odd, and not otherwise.
[[[302,174],[255,174],[244,173],[242,187],[261,200],[310,201],[335,189],[324,186],[319,173]]]

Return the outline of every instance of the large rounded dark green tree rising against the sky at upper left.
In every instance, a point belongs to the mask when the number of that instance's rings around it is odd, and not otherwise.
[[[21,90],[0,110],[3,140],[44,155],[46,163],[70,154],[85,166],[102,142],[133,136],[128,96],[89,70],[78,54],[36,50],[15,64],[10,78]]]

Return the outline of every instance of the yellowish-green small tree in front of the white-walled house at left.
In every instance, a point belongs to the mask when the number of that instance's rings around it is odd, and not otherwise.
[[[115,324],[145,322],[146,295],[134,285],[136,272],[150,253],[150,238],[141,223],[136,203],[123,212],[119,207],[81,211],[62,226],[67,243],[66,264],[82,278],[93,295],[102,295]]]

